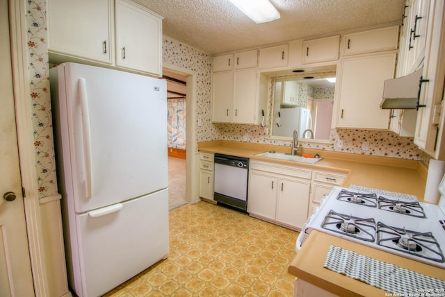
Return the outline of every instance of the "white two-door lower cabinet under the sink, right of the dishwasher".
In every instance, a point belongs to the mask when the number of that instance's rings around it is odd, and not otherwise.
[[[307,221],[311,174],[302,167],[251,160],[249,214],[301,230]]]

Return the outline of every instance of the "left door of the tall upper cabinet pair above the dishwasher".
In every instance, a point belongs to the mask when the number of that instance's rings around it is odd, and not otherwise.
[[[212,121],[231,123],[234,102],[234,73],[217,72],[213,74],[212,84]]]

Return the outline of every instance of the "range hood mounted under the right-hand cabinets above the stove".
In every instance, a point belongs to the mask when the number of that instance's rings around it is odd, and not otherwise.
[[[381,109],[418,109],[423,67],[412,74],[385,80]]]

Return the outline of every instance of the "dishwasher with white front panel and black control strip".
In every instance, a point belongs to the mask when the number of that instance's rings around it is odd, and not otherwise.
[[[241,212],[248,211],[249,159],[215,154],[213,199]]]

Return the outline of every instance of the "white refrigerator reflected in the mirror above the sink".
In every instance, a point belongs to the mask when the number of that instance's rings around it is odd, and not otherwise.
[[[274,136],[292,137],[293,130],[297,130],[298,137],[302,137],[312,126],[311,111],[307,108],[280,108],[275,121]]]

